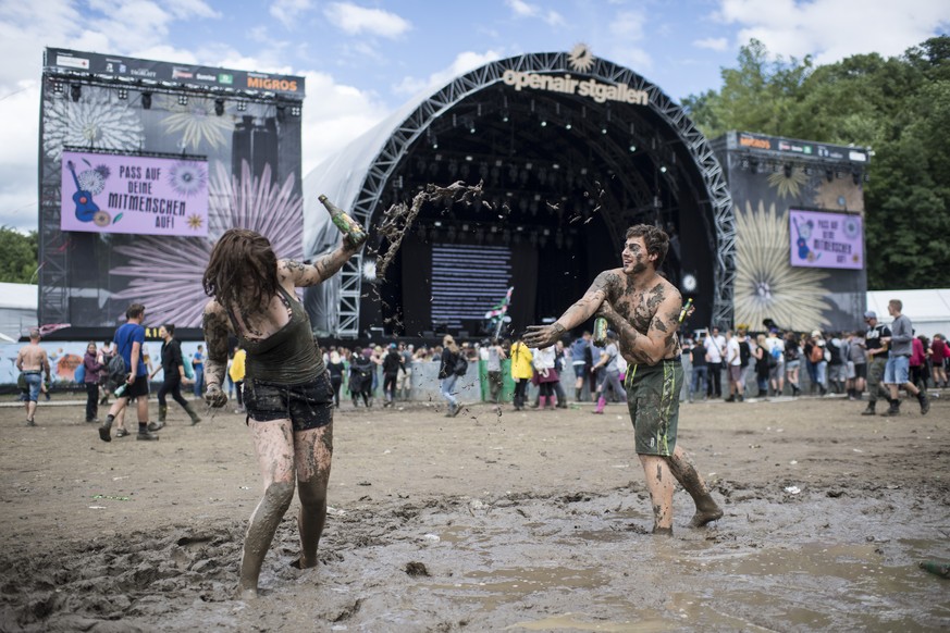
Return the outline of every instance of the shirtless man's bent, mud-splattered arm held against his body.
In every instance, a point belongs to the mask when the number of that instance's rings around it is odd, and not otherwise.
[[[656,312],[650,321],[646,334],[638,332],[622,314],[614,310],[609,301],[603,301],[597,316],[603,316],[610,327],[620,335],[620,355],[630,363],[656,364],[665,358],[676,356],[679,328],[679,312],[682,299],[677,291],[659,293]]]

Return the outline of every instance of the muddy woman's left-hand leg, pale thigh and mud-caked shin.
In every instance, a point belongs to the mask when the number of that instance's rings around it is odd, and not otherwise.
[[[240,597],[256,598],[264,556],[294,499],[294,439],[289,420],[250,421],[264,496],[255,508],[240,553]]]

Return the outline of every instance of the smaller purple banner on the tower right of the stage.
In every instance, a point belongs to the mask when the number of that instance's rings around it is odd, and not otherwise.
[[[863,269],[864,223],[860,215],[789,209],[791,265]]]

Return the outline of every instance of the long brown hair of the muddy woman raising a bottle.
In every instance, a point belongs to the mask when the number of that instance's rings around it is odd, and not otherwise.
[[[247,228],[231,228],[214,245],[205,277],[205,294],[225,310],[262,310],[277,294],[277,257],[267,237]]]

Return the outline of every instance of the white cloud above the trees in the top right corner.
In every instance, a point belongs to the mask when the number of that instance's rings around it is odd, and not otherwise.
[[[754,37],[772,53],[825,64],[858,53],[899,55],[950,25],[950,2],[720,0],[717,17],[740,26],[740,45]]]

